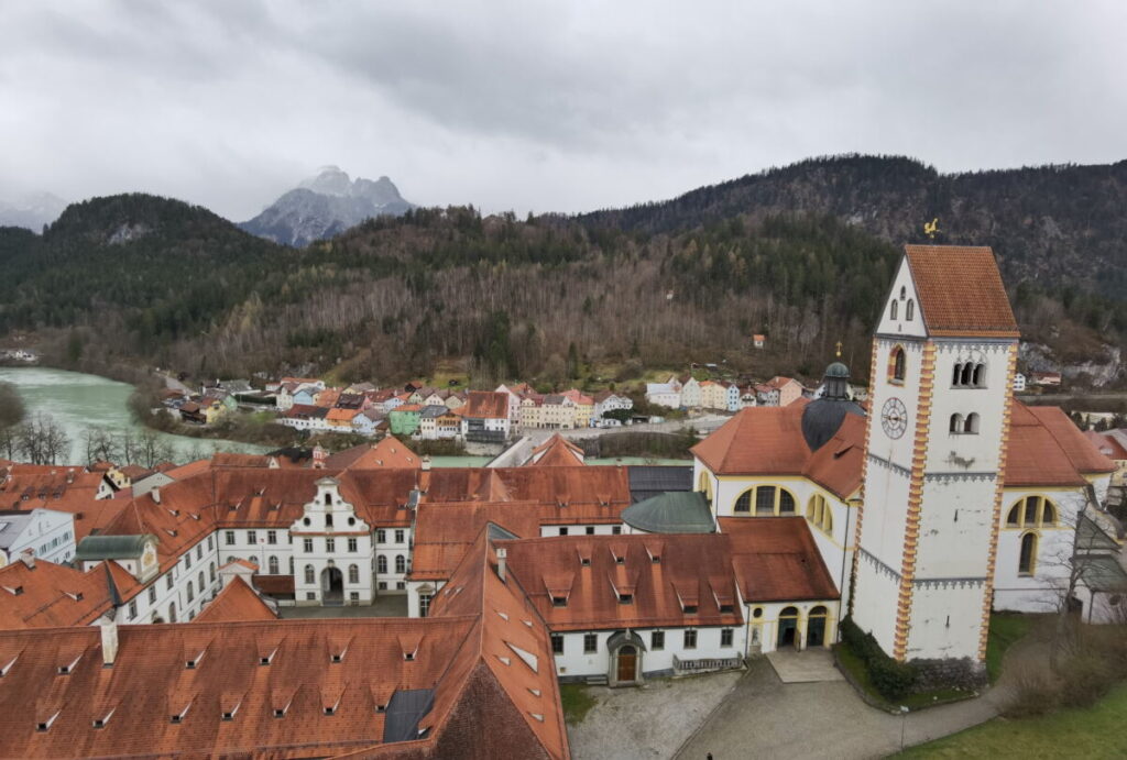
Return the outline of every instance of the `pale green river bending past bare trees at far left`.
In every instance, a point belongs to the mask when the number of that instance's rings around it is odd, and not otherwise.
[[[143,429],[133,421],[126,405],[133,393],[128,383],[46,367],[0,367],[0,382],[16,386],[28,418],[42,412],[66,431],[71,453],[66,463],[59,464],[87,464],[82,437],[90,428],[133,432]],[[172,446],[177,462],[186,462],[195,453],[208,456],[213,451],[261,454],[267,450],[264,446],[233,440],[189,438],[167,432],[157,435]]]

